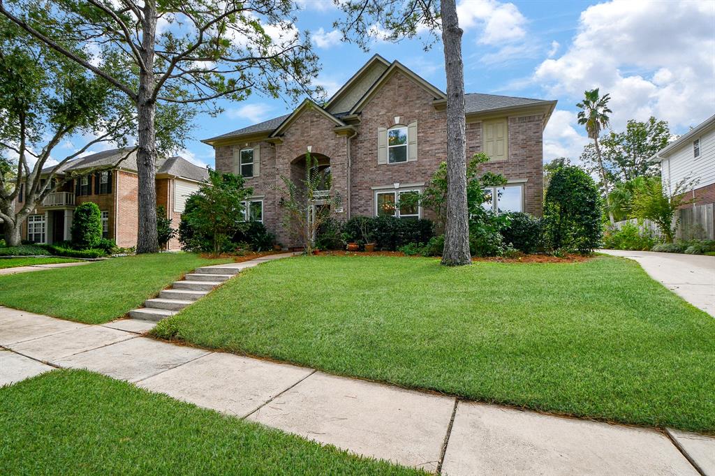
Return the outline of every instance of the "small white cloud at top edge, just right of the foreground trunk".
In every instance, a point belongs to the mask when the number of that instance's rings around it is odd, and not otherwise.
[[[499,45],[526,36],[526,18],[516,5],[496,0],[462,0],[457,5],[459,25],[465,29],[479,27],[482,44]]]

